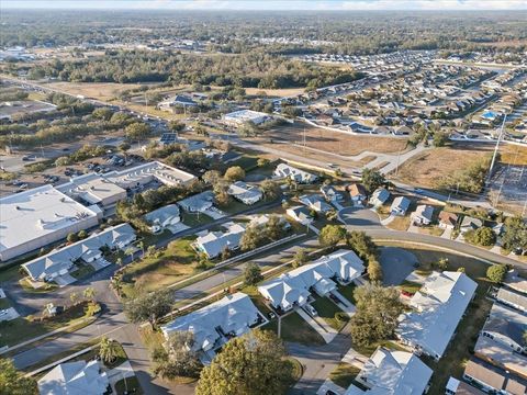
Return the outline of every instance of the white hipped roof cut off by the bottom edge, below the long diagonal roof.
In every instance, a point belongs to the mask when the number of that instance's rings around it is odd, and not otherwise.
[[[431,373],[431,369],[411,352],[378,348],[359,376],[371,385],[367,395],[422,395]]]

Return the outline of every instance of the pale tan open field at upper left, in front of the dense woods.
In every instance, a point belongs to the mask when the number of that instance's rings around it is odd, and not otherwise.
[[[122,91],[139,88],[141,84],[115,82],[51,82],[46,83],[46,87],[75,95],[80,94],[85,98],[108,101],[114,99]]]

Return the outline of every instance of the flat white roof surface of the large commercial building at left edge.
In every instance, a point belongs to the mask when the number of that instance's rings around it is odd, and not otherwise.
[[[97,217],[90,208],[43,185],[0,199],[0,253]]]

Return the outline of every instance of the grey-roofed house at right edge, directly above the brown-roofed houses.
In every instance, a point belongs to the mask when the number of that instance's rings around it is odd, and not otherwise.
[[[524,340],[526,330],[527,317],[525,315],[494,303],[481,330],[481,336],[486,336],[516,352],[527,353]]]

